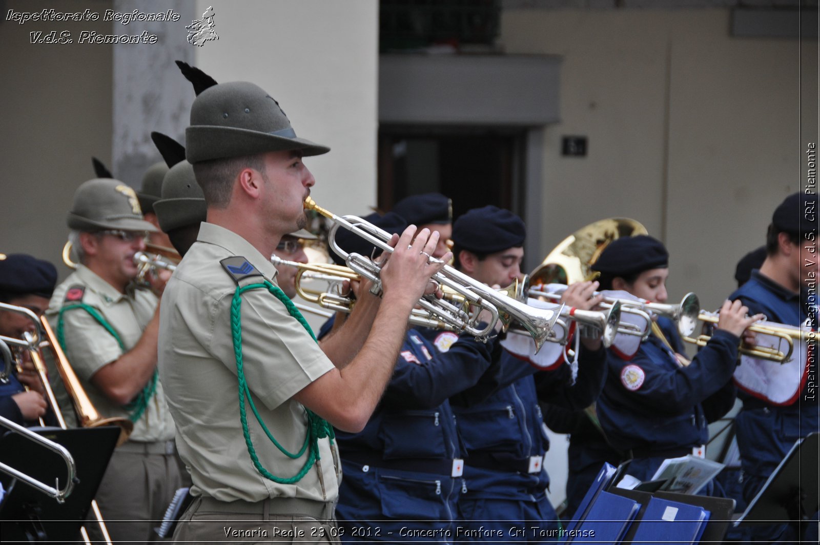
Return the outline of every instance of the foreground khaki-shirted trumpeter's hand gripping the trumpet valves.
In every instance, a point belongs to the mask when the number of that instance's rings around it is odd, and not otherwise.
[[[430,230],[422,229],[413,240],[415,235],[416,226],[411,225],[404,230],[398,240],[396,236],[390,240],[390,245],[395,241],[394,250],[380,272],[385,295],[392,291],[391,296],[406,298],[411,307],[421,295],[438,291],[438,284],[430,282],[430,277],[444,267],[444,263],[451,255],[448,252],[440,260],[430,259],[435,246],[439,243],[437,231],[430,234]]]

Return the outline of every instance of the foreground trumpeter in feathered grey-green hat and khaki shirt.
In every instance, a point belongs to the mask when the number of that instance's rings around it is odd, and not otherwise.
[[[257,85],[183,70],[198,89],[185,147],[208,221],[162,298],[160,371],[197,497],[174,538],[211,540],[229,520],[244,540],[288,532],[338,541],[330,424],[356,432],[367,423],[412,306],[441,268],[429,262],[438,236],[421,231],[410,245],[408,227],[391,241],[384,305],[363,296],[345,325],[353,334],[323,346],[329,360],[270,262],[282,236],[307,222],[315,180],[303,157],[328,148],[298,138]]]

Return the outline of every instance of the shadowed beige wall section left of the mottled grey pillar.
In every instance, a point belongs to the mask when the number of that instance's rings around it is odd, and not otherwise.
[[[112,2],[4,2],[8,10],[102,13]],[[102,19],[102,17],[101,17]],[[92,177],[91,157],[111,164],[110,45],[30,44],[30,32],[111,32],[111,23],[0,22],[0,252],[25,252],[60,264],[74,190]]]

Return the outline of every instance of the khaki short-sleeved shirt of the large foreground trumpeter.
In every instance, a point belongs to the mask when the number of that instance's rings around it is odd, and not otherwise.
[[[276,268],[247,240],[203,222],[162,295],[159,368],[176,423],[176,444],[194,482],[192,493],[221,501],[299,497],[334,501],[335,452],[319,440],[321,460],[293,484],[275,483],[253,465],[239,421],[239,389],[230,327],[237,284],[220,261],[241,256],[276,285]],[[241,263],[241,260],[240,260]],[[254,276],[240,285],[262,282]],[[276,441],[298,452],[307,434],[303,405],[293,396],[333,369],[302,324],[267,289],[242,296],[244,373],[253,402]],[[298,474],[298,459],[282,454],[266,437],[249,406],[248,428],[262,466],[280,478]]]

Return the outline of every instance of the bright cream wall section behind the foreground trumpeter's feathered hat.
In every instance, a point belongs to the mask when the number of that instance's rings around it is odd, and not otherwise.
[[[338,214],[376,204],[378,2],[216,2],[219,40],[196,48],[217,81],[251,80],[282,106],[300,137],[330,146],[307,158],[317,203]]]

